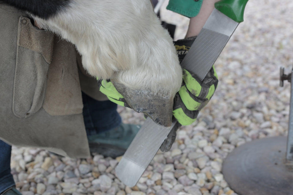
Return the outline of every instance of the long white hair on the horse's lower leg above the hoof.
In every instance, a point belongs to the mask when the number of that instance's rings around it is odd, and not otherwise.
[[[149,0],[71,0],[47,19],[33,18],[75,44],[95,77],[168,97],[180,89],[175,47]]]

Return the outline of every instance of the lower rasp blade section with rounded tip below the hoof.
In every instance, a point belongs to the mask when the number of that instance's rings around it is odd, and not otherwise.
[[[166,128],[147,118],[115,168],[116,175],[124,184],[136,185],[172,128],[176,128],[176,122]]]

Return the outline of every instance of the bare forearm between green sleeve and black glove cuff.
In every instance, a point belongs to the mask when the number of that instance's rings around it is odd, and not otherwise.
[[[197,36],[205,25],[215,8],[214,4],[219,0],[203,0],[200,12],[197,16],[190,18],[189,27],[185,38]]]

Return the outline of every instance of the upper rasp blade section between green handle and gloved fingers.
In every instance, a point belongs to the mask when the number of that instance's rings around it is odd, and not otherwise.
[[[238,24],[214,9],[181,62],[181,66],[203,80]]]

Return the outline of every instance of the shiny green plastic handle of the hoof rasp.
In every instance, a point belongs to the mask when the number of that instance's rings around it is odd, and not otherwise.
[[[243,22],[244,8],[248,0],[221,0],[215,3],[215,8],[232,20]]]

